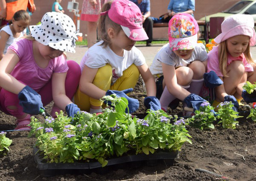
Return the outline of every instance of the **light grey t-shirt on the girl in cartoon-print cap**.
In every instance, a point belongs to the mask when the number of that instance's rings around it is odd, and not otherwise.
[[[199,61],[206,61],[207,60],[207,52],[206,48],[202,43],[196,45],[190,59],[184,60],[178,57],[169,46],[169,43],[163,45],[163,47],[158,51],[157,55],[155,56],[153,63],[150,66],[150,71],[152,75],[162,76],[163,69],[162,63],[174,66],[175,68],[188,66],[191,62],[199,60]]]

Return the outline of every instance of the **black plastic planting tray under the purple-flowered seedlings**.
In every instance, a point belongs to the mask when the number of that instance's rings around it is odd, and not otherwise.
[[[35,154],[38,148],[34,148],[33,153]],[[35,162],[44,177],[52,177],[56,175],[64,174],[85,174],[96,172],[98,174],[108,173],[110,170],[129,168],[147,165],[155,166],[159,163],[165,162],[166,165],[172,166],[174,158],[179,158],[178,151],[176,152],[157,152],[154,154],[138,154],[138,155],[128,155],[124,157],[108,159],[108,165],[102,167],[99,162],[89,162],[89,163],[44,163],[42,159],[39,158],[38,154],[35,154]]]

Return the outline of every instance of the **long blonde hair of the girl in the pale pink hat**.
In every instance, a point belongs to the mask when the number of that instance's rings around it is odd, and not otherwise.
[[[227,40],[222,41],[219,43],[219,52],[218,52],[218,58],[219,58],[219,69],[221,70],[221,73],[224,77],[228,77],[229,75],[226,72],[227,68]],[[255,65],[255,62],[253,61],[250,53],[250,42],[248,43],[248,46],[246,47],[244,51],[244,56],[246,61],[251,64]]]

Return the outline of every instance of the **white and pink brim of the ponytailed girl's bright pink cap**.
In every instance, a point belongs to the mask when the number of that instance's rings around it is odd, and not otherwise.
[[[148,39],[147,33],[143,28],[131,29],[122,25],[121,27],[124,33],[127,35],[127,37],[132,39],[133,41],[144,41]]]

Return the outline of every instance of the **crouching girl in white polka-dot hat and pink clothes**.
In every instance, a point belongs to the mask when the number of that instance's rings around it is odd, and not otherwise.
[[[51,116],[60,109],[74,116],[80,109],[71,101],[79,84],[80,67],[66,61],[63,52],[75,52],[78,39],[71,18],[46,13],[31,35],[9,46],[0,61],[0,109],[15,116],[15,129],[28,130],[31,115],[54,101]]]

